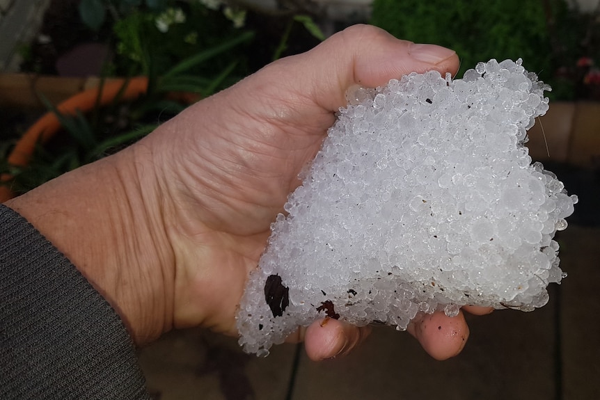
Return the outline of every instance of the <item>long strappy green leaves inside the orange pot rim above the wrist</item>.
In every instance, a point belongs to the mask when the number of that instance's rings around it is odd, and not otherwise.
[[[63,131],[49,143],[38,141],[29,163],[24,166],[8,163],[13,141],[0,142],[0,176],[10,176],[10,180],[2,180],[1,183],[8,184],[17,195],[25,193],[49,179],[105,157],[145,136],[159,122],[168,120],[188,105],[187,101],[179,101],[174,98],[176,96],[169,94],[186,92],[210,95],[226,80],[235,63],[210,78],[196,77],[189,74],[190,70],[213,61],[252,37],[252,33],[242,33],[237,38],[184,59],[163,76],[148,79],[145,95],[134,102],[120,101],[127,83],[113,102],[105,107],[99,105],[101,86],[96,106],[88,115],[80,111],[75,115],[65,115],[42,98],[47,108],[58,117]]]

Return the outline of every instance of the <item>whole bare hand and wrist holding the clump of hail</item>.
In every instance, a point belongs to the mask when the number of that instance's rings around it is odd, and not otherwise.
[[[70,257],[136,343],[191,326],[236,335],[237,303],[269,225],[346,104],[347,88],[458,65],[448,49],[354,26],[8,205]],[[366,332],[317,321],[297,338],[322,359],[346,353]],[[436,358],[459,353],[468,337],[462,315],[427,316],[409,332]]]

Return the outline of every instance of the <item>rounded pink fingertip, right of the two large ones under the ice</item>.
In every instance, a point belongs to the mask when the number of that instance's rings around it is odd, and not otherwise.
[[[443,312],[423,314],[413,320],[407,330],[436,360],[446,360],[458,355],[464,348],[469,333],[462,312],[456,317],[448,317]]]

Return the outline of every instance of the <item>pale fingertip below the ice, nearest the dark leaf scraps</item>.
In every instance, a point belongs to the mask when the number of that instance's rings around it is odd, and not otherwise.
[[[310,360],[326,360],[349,353],[370,332],[368,326],[358,328],[336,319],[321,319],[306,328],[304,347]]]

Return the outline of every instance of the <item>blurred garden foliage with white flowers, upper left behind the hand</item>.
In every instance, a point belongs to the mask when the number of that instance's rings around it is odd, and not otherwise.
[[[15,194],[105,157],[150,133],[192,102],[231,86],[274,58],[306,51],[324,39],[301,9],[260,13],[219,0],[54,1],[42,28],[47,40],[24,51],[23,70],[57,74],[56,60],[82,42],[108,51],[92,110],[54,113],[63,129],[38,141],[26,166],[8,154],[19,135],[0,143],[0,173]],[[54,14],[52,12],[54,11]],[[272,23],[275,22],[275,23]],[[148,77],[147,89],[124,101],[130,77]],[[123,90],[100,104],[104,78],[123,77]]]

